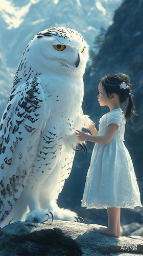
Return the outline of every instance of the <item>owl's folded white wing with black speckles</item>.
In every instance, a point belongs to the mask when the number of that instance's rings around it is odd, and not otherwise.
[[[33,77],[13,89],[0,125],[0,222],[11,212],[32,169],[45,111],[41,79]]]

